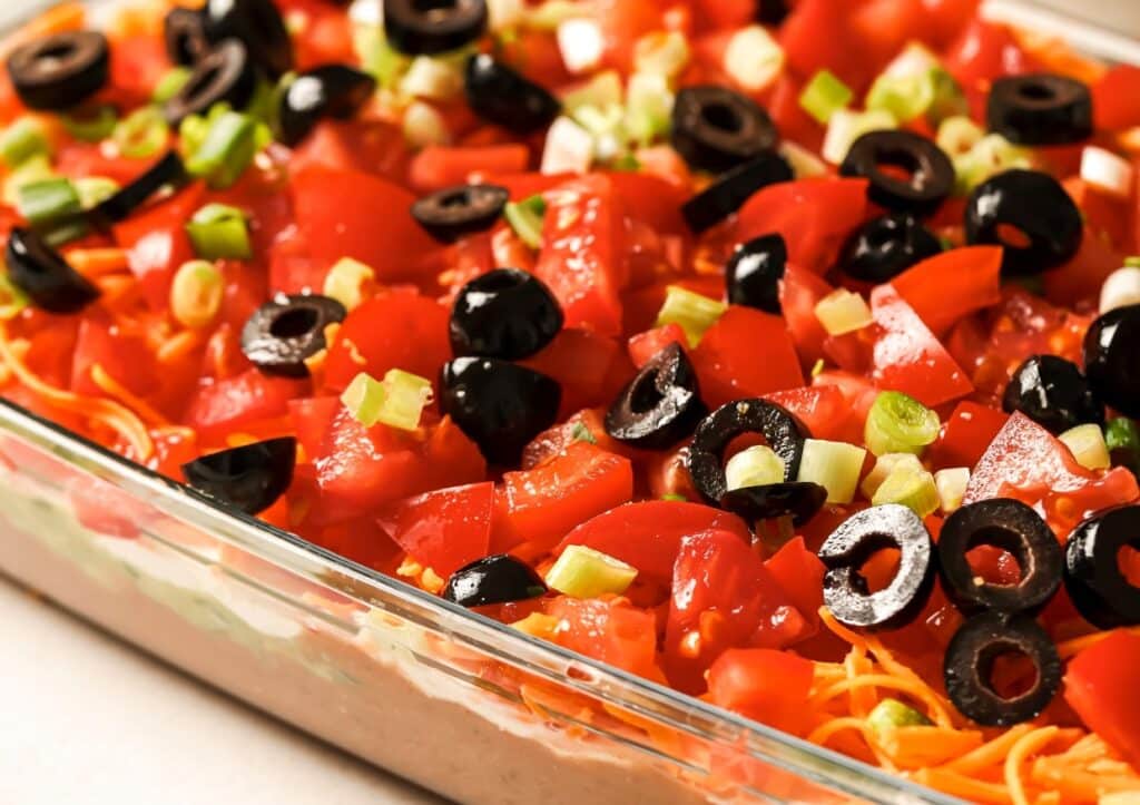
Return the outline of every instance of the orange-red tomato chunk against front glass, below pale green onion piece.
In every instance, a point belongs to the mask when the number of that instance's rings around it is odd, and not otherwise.
[[[559,619],[554,640],[571,651],[663,682],[657,664],[657,623],[652,612],[625,599],[560,595],[546,607]]]

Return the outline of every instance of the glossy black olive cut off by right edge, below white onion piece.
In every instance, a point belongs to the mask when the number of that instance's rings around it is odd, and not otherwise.
[[[1125,416],[1140,417],[1140,304],[1109,310],[1084,336],[1084,372],[1093,391]]]

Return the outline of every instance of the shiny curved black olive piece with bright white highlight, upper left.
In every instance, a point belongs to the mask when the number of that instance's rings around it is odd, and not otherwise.
[[[323,117],[352,117],[375,89],[374,78],[345,64],[326,64],[301,73],[282,93],[277,111],[282,143],[296,145]]]

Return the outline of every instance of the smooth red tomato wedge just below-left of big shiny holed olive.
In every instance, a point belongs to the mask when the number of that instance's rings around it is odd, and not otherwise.
[[[890,284],[942,338],[961,317],[1001,301],[1001,247],[952,249],[912,266]]]

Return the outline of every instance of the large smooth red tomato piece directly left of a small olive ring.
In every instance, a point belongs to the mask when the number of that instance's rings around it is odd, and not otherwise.
[[[381,282],[416,278],[439,252],[412,218],[416,197],[385,179],[315,165],[292,177],[290,192],[300,236],[324,269],[349,257]]]

